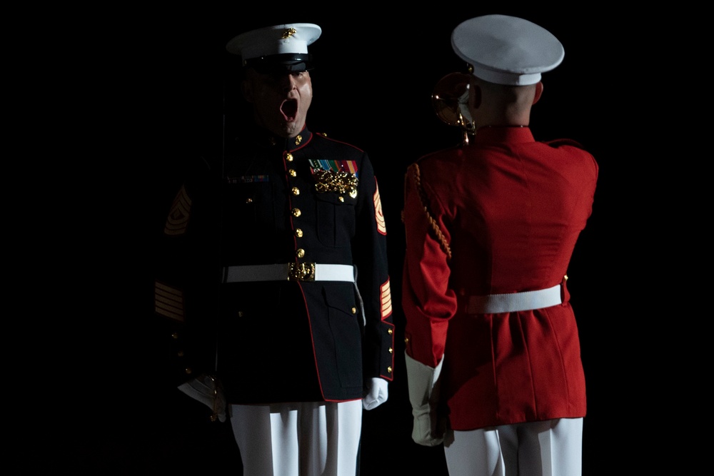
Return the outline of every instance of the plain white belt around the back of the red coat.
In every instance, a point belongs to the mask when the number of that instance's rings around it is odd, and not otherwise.
[[[549,308],[563,303],[560,297],[560,284],[553,288],[523,293],[489,294],[469,296],[466,304],[467,314],[514,313],[517,310]]]

